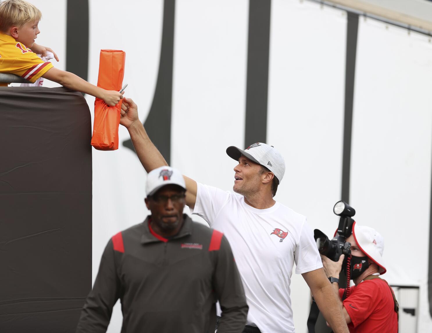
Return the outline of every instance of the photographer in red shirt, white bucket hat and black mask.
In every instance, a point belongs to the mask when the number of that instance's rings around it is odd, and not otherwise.
[[[379,275],[386,269],[382,259],[384,239],[374,229],[353,224],[351,255],[341,255],[337,262],[321,255],[324,272],[332,282],[343,305],[349,331],[362,333],[396,333],[398,331],[397,301],[388,283]],[[347,280],[355,286],[339,289],[339,273],[344,270]]]

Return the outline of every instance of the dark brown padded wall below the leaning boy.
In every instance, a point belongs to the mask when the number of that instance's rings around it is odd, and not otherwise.
[[[89,107],[0,87],[0,332],[74,332],[92,283]]]

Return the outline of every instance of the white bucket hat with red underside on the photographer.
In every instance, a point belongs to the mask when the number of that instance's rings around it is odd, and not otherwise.
[[[379,273],[384,274],[387,270],[385,269],[385,263],[382,259],[384,238],[381,234],[371,227],[358,225],[354,222],[353,236],[359,249],[378,265]]]

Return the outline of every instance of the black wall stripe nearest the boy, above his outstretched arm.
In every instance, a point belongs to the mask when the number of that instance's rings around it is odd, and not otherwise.
[[[89,1],[67,0],[66,70],[87,81],[89,64]]]

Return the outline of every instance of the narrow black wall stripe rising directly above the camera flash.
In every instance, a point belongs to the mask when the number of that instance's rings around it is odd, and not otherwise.
[[[354,75],[356,72],[357,32],[359,15],[348,12],[345,64],[345,118],[343,127],[342,200],[349,203],[351,168],[351,134],[353,130]]]

